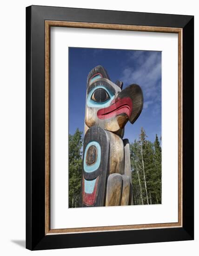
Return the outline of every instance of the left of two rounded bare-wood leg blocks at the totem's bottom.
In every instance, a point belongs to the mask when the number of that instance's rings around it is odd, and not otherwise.
[[[106,206],[121,205],[122,175],[113,173],[108,176],[106,188]]]

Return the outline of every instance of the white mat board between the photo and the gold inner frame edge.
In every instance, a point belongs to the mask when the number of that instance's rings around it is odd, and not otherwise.
[[[162,204],[68,209],[70,46],[162,51]],[[178,222],[178,34],[53,27],[51,90],[51,228]]]

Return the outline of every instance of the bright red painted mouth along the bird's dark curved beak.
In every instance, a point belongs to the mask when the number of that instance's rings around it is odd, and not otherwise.
[[[132,113],[133,103],[130,97],[117,98],[107,108],[101,108],[97,112],[99,119],[107,119],[119,114],[126,114],[128,118]]]

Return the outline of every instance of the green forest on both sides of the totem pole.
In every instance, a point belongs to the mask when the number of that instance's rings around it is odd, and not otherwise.
[[[161,146],[146,140],[143,128],[139,139],[130,144],[133,204],[161,203]],[[69,135],[69,207],[79,207],[82,172],[82,132]]]

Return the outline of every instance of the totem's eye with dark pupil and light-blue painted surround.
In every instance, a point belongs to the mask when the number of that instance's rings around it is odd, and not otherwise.
[[[87,106],[93,108],[103,108],[110,105],[114,99],[114,94],[109,92],[103,85],[91,90],[87,96]]]

